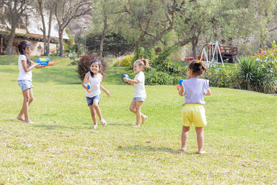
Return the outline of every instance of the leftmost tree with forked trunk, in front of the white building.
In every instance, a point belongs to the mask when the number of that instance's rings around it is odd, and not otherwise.
[[[7,55],[12,53],[12,42],[15,38],[15,29],[17,24],[21,20],[21,17],[24,15],[24,12],[30,8],[30,5],[33,3],[33,0],[1,0],[2,3],[8,7],[8,14],[10,19],[10,35],[8,36],[8,45],[7,45]]]

